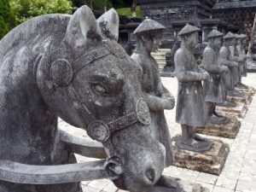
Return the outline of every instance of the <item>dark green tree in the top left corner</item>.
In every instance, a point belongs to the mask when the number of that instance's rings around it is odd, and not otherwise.
[[[15,15],[8,0],[0,0],[0,39],[15,26]]]

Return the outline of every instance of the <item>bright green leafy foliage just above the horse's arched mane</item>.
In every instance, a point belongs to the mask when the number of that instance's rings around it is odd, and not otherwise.
[[[69,14],[72,9],[70,0],[10,0],[10,6],[19,23],[38,15]]]

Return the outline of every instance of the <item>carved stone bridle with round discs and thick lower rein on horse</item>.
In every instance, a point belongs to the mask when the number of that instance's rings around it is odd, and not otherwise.
[[[102,46],[97,46],[96,49],[87,51],[86,54],[73,61],[72,64],[67,60],[58,59],[53,62],[50,68],[54,83],[57,86],[67,86],[68,96],[73,103],[76,103],[74,106],[79,115],[87,119],[90,117],[90,124],[86,128],[87,134],[100,143],[107,143],[113,132],[121,131],[137,122],[143,125],[149,125],[151,122],[148,105],[143,98],[137,100],[133,113],[128,113],[111,122],[96,119],[84,103],[79,101],[79,97],[71,84],[73,76],[79,70],[98,59],[107,55],[124,58],[126,54],[119,46],[119,44],[112,43],[110,40],[103,40]],[[66,142],[65,139],[64,142]],[[118,175],[116,173],[107,170],[108,164],[111,163],[114,166],[118,166],[119,160],[115,160],[115,157],[109,157],[108,160],[60,166],[31,166],[10,160],[0,160],[0,180],[11,183],[54,184],[100,178],[117,178]]]

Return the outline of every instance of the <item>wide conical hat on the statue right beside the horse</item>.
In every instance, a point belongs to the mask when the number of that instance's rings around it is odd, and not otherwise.
[[[143,20],[143,22],[139,26],[137,26],[137,28],[133,32],[133,34],[154,31],[154,30],[163,30],[165,28],[166,28],[166,26],[163,26],[159,22],[157,22],[155,20],[151,20],[148,17],[146,17],[146,19]]]

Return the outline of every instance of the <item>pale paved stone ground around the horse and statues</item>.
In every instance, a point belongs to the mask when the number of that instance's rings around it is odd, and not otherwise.
[[[163,78],[163,84],[177,97],[177,79]],[[256,73],[248,73],[243,78],[244,84],[256,89]],[[175,122],[175,109],[166,111],[166,119],[172,137],[181,132],[180,126]],[[73,129],[71,125],[60,121],[59,126],[76,136],[87,137],[85,131]],[[88,138],[88,137],[87,137]],[[179,177],[190,182],[201,183],[211,192],[256,192],[256,96],[244,119],[241,120],[241,130],[236,139],[211,137],[223,140],[230,144],[230,154],[225,162],[223,172],[219,176],[195,172],[188,169],[170,166],[164,174]],[[93,160],[77,155],[79,161]],[[84,192],[121,192],[107,179],[83,182]]]

